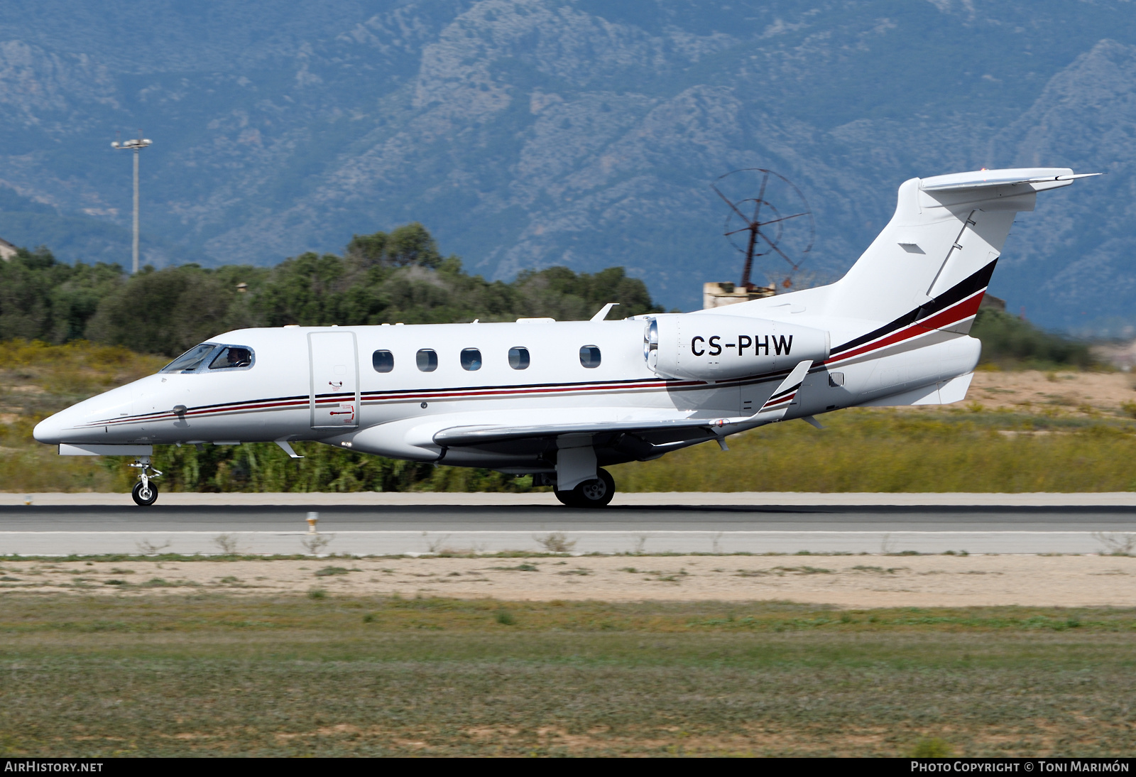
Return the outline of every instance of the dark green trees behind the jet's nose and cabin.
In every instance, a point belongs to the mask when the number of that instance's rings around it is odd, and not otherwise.
[[[354,235],[343,257],[302,253],[273,268],[182,265],[126,276],[117,265],[57,262],[47,249],[0,262],[0,339],[86,337],[170,357],[249,326],[571,320],[607,302],[620,303],[619,317],[661,310],[621,267],[551,267],[512,283],[469,275],[417,222]]]

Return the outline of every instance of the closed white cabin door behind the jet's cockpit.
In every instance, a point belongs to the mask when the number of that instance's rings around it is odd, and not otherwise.
[[[353,332],[308,334],[312,428],[359,426],[359,359]]]

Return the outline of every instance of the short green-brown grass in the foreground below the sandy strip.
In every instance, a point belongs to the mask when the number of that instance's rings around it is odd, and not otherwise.
[[[1136,611],[8,596],[3,755],[1116,755]]]

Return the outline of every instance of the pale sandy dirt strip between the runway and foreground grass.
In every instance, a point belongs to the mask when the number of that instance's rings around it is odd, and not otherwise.
[[[6,561],[0,586],[141,595],[394,595],[876,607],[1136,607],[1113,555],[621,555],[302,561]]]

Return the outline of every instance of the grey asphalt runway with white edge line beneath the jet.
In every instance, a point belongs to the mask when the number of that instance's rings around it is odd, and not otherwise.
[[[1136,507],[0,506],[0,554],[22,555],[491,553],[546,550],[554,534],[576,553],[1129,552]]]

